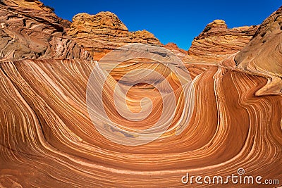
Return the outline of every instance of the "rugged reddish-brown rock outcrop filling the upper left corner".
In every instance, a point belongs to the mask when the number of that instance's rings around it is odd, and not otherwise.
[[[39,1],[1,1],[0,24],[1,61],[91,58],[66,35],[70,23]]]

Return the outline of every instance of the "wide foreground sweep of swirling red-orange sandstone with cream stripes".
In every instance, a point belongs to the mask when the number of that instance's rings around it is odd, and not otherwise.
[[[75,60],[1,63],[4,182],[22,187],[177,187],[187,172],[224,177],[239,167],[254,176],[282,178],[282,99],[255,96],[266,84],[263,77],[210,68],[195,80],[197,99],[185,131],[176,136],[171,129],[155,142],[132,147],[110,142],[92,125],[85,91],[93,67],[92,61]],[[145,94],[147,89],[137,90]],[[179,114],[182,100],[180,95]],[[154,113],[157,108],[148,122]]]

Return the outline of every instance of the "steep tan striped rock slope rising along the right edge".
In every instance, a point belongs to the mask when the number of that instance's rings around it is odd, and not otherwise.
[[[257,95],[282,94],[282,6],[264,20],[235,62],[241,70],[268,77]]]

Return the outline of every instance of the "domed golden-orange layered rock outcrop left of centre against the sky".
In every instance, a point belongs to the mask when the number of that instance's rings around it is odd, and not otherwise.
[[[129,32],[128,28],[111,12],[96,15],[80,13],[73,17],[68,35],[83,49],[99,60],[109,51],[130,43],[163,46],[159,39],[146,30]]]

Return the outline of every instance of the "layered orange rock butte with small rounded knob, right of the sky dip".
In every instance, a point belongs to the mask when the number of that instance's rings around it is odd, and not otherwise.
[[[258,26],[244,26],[228,29],[223,20],[209,23],[198,37],[192,41],[186,62],[219,63],[250,42]]]

